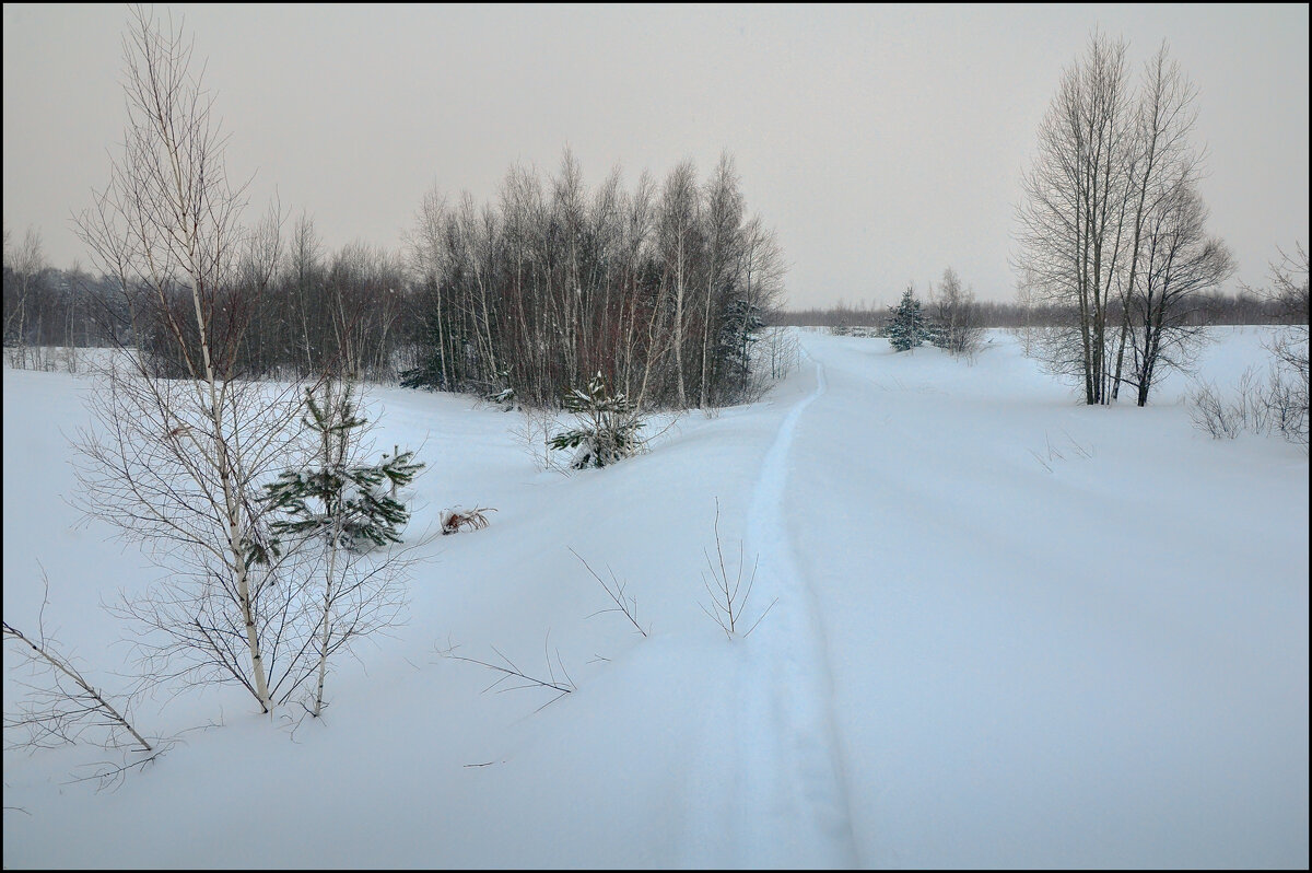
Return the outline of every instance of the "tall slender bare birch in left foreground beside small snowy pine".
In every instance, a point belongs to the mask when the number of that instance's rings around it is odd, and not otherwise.
[[[154,332],[180,372],[161,373],[139,349],[115,361],[93,396],[100,428],[84,435],[83,483],[92,512],[178,574],[125,607],[148,629],[151,656],[182,655],[178,672],[197,680],[232,679],[268,713],[270,664],[286,654],[283,618],[299,595],[256,561],[257,490],[287,461],[298,389],[236,378],[258,291],[235,281],[245,188],[228,179],[192,43],[136,7],[123,53],[123,154],[77,226],[138,341]]]

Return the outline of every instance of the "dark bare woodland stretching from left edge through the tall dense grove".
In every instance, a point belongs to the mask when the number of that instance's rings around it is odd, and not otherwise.
[[[131,337],[160,374],[189,372],[199,337],[186,281],[93,281],[35,266],[39,243],[30,248],[7,249],[7,345]],[[747,396],[785,270],[773,231],[747,215],[728,155],[702,182],[684,161],[659,186],[644,175],[626,190],[611,172],[589,190],[567,152],[547,179],[512,169],[495,205],[432,190],[401,253],[362,243],[327,253],[312,219],[277,213],[232,249],[209,318],[232,337],[211,352],[235,374],[327,366],[415,387],[509,389],[531,406],[554,406],[597,373],[644,407]],[[240,336],[230,322],[245,326]]]

